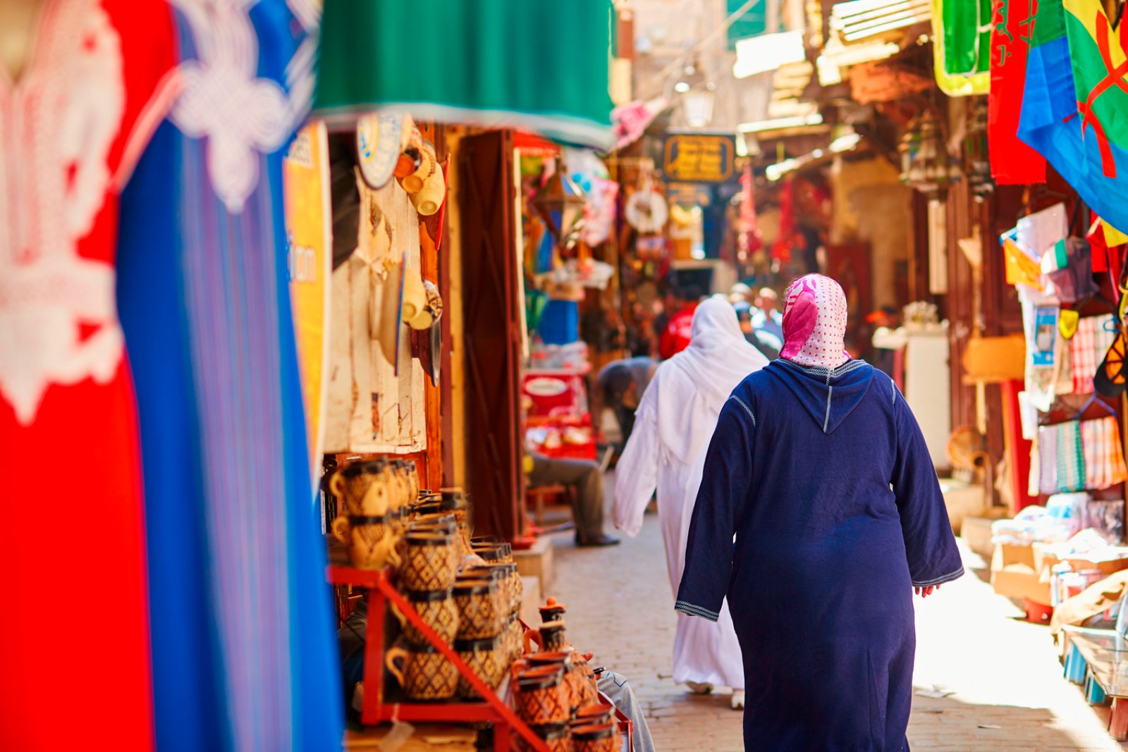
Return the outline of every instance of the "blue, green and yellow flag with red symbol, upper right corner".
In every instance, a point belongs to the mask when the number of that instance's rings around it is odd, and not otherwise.
[[[1019,138],[1094,212],[1128,228],[1125,37],[1099,0],[1042,0],[1033,26]]]

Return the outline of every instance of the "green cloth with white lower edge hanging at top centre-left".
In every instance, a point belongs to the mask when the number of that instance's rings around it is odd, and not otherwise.
[[[609,0],[325,0],[314,116],[373,109],[608,149]]]

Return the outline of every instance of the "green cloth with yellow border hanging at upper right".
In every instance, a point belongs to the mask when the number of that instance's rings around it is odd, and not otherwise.
[[[936,83],[950,97],[990,90],[992,0],[933,0]]]

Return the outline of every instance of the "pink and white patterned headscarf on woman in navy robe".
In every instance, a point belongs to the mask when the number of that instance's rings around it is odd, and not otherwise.
[[[783,352],[796,365],[836,369],[846,352],[846,293],[830,277],[808,274],[784,295]]]

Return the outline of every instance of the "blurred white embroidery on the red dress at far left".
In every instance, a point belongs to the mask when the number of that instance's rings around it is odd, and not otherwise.
[[[23,425],[50,384],[108,382],[124,353],[114,267],[78,254],[111,189],[121,38],[97,2],[74,0],[51,8],[36,44],[20,83],[0,82],[0,395]]]

